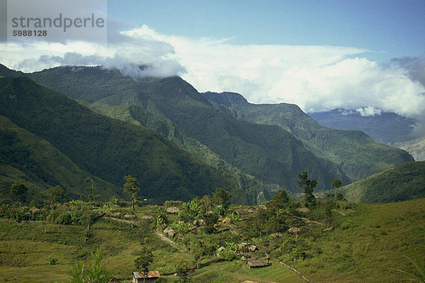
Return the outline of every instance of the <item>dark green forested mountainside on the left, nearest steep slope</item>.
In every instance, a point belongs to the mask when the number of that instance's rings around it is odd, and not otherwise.
[[[163,202],[188,200],[217,187],[246,195],[227,173],[207,166],[149,129],[113,120],[26,78],[0,79],[0,115],[45,139],[82,170],[117,187],[125,175],[140,182],[140,195]]]

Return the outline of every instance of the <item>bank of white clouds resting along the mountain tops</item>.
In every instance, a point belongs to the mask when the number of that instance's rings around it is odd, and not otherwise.
[[[306,112],[345,108],[364,116],[395,112],[425,122],[424,59],[404,57],[382,65],[367,59],[371,51],[356,47],[232,45],[227,38],[164,35],[147,25],[115,28],[108,42],[108,47],[11,45],[0,60],[22,71],[102,64],[131,76],[179,75],[200,92],[234,91],[251,103],[295,103]]]

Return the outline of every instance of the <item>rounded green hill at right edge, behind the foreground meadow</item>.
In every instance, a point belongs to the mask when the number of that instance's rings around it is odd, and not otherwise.
[[[425,197],[425,162],[406,162],[341,188],[351,202],[398,202]]]

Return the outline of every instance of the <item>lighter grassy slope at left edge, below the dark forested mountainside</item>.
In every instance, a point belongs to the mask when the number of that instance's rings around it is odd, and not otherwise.
[[[82,171],[50,142],[31,134],[0,116],[0,192],[8,196],[8,188],[21,180],[30,188],[28,195],[40,200],[40,191],[60,185],[70,197],[79,198],[85,193],[84,179],[90,174]],[[103,200],[122,195],[122,190],[100,178],[94,178]]]

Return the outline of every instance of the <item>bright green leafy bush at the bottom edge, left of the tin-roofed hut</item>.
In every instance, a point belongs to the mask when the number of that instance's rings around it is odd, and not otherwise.
[[[100,248],[91,253],[91,260],[84,265],[81,260],[72,269],[72,283],[108,283],[111,281],[111,270],[102,267],[103,253]]]

